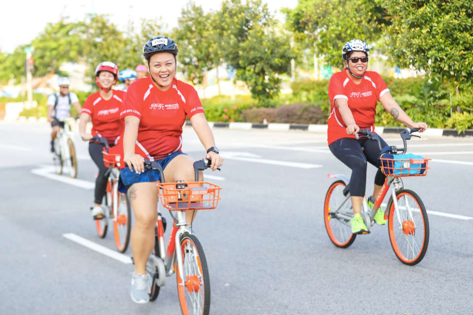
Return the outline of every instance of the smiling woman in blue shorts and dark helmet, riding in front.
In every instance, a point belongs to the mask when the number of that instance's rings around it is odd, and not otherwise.
[[[181,151],[182,126],[189,117],[212,161],[211,169],[223,164],[196,90],[176,75],[176,43],[165,36],[151,38],[143,48],[150,75],[128,88],[120,118],[125,121],[124,161],[120,178],[128,191],[135,214],[131,246],[135,262],[130,295],[136,303],[149,301],[146,261],[154,246],[157,220],[158,171],[144,168],[144,160],[158,161],[166,182],[194,181],[194,160]],[[135,144],[137,146],[135,153]],[[200,174],[202,178],[202,174]],[[193,215],[188,211],[187,222]]]

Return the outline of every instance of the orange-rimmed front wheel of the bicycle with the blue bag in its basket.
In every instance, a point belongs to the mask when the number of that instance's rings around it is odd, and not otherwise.
[[[401,222],[391,197],[387,207],[389,240],[399,260],[406,265],[415,265],[424,258],[429,245],[427,211],[420,197],[412,190],[400,189],[396,196]]]

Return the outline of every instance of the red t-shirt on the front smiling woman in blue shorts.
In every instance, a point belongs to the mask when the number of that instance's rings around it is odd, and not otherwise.
[[[181,150],[186,116],[197,113],[203,113],[203,107],[191,85],[174,78],[169,90],[161,91],[147,76],[128,87],[120,119],[139,118],[136,153],[158,160]]]

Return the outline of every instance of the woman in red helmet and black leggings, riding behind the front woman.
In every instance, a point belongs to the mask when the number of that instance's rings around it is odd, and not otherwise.
[[[94,207],[92,216],[94,220],[103,218],[101,207],[102,198],[107,188],[107,168],[103,164],[103,145],[91,141],[93,136],[104,137],[110,147],[117,144],[123,131],[123,122],[120,121],[120,108],[122,107],[125,92],[112,90],[117,82],[118,67],[115,63],[103,62],[95,69],[95,82],[99,91],[87,97],[84,107],[80,112],[79,132],[82,140],[89,141],[89,154],[99,168],[99,175],[95,180]],[[92,133],[86,133],[86,124],[92,117]]]

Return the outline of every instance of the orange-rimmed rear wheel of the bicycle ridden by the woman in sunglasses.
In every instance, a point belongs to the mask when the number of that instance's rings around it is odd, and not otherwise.
[[[343,189],[345,182],[338,180],[330,185],[325,195],[324,203],[324,222],[325,229],[332,243],[337,247],[347,248],[356,238],[356,234],[351,232],[351,223],[349,220],[337,217],[336,211],[345,202],[346,207],[351,205],[351,200],[345,201]],[[349,199],[349,198],[348,198]]]

